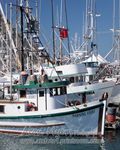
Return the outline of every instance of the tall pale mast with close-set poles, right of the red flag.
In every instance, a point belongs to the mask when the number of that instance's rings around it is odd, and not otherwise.
[[[85,28],[85,40],[86,49],[88,55],[96,50],[96,17],[100,15],[96,14],[96,1],[86,0],[86,28]],[[97,52],[96,52],[97,53]]]

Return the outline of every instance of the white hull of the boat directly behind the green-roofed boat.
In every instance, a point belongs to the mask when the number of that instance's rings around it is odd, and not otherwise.
[[[77,94],[77,93],[88,93],[86,94],[86,99],[90,102],[93,100],[101,99],[104,93],[108,94],[107,101],[109,102],[111,94],[114,88],[115,82],[97,82],[94,84],[86,85],[69,85],[67,87],[68,94]],[[90,94],[91,93],[91,94]],[[76,95],[76,99],[78,95]],[[74,96],[75,99],[75,96]],[[82,99],[82,98],[81,98]]]

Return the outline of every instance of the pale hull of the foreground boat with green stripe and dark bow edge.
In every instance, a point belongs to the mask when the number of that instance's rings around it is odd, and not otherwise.
[[[1,115],[0,132],[52,135],[103,135],[106,101],[53,112]]]

